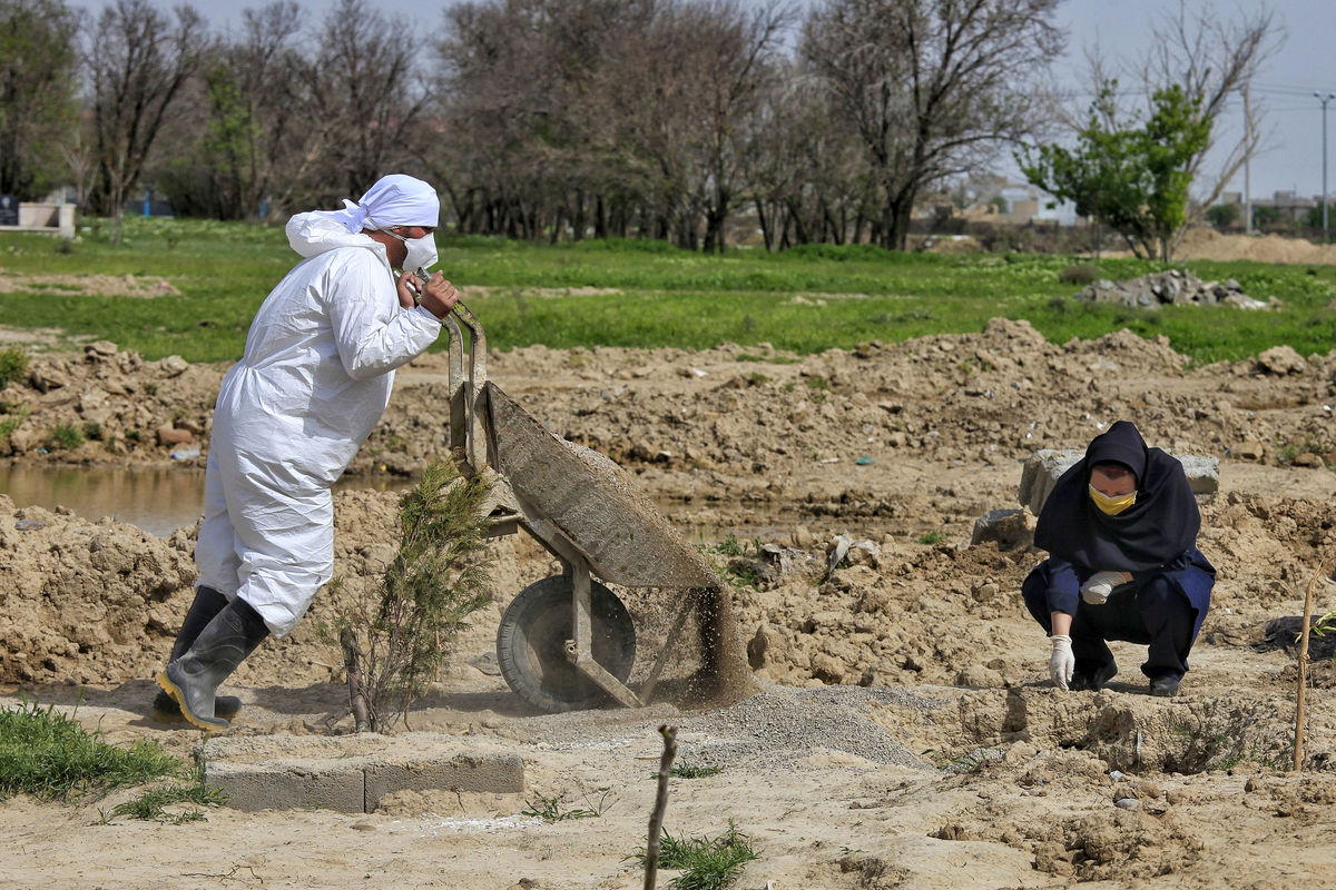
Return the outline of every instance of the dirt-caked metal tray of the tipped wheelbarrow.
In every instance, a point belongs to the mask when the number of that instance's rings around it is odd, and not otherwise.
[[[625,470],[553,435],[490,380],[485,398],[494,468],[526,511],[574,544],[596,575],[625,587],[721,588]]]

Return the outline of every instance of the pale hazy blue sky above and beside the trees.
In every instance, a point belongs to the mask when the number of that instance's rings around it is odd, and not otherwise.
[[[194,0],[187,0],[194,1]],[[318,19],[334,0],[298,0]],[[405,29],[440,27],[438,11],[456,0],[373,0],[373,5]],[[1280,49],[1253,83],[1252,100],[1265,105],[1264,129],[1269,132],[1265,151],[1252,163],[1252,193],[1271,196],[1276,189],[1296,189],[1300,195],[1323,192],[1323,111],[1313,96],[1336,93],[1336,0],[1212,0],[1221,16],[1237,11],[1271,9],[1281,28]],[[103,0],[72,0],[73,5],[102,9]],[[811,7],[820,0],[798,0]],[[172,0],[162,0],[168,8]],[[214,27],[235,25],[240,11],[261,5],[259,0],[211,0],[194,3]],[[1070,32],[1066,57],[1058,60],[1059,79],[1079,89],[1085,85],[1083,49],[1098,44],[1106,59],[1134,57],[1148,44],[1148,23],[1166,11],[1173,0],[1065,0],[1058,23]],[[1129,83],[1124,81],[1125,85]],[[1222,140],[1237,139],[1242,100],[1230,103],[1222,124]],[[1336,195],[1336,100],[1328,105],[1328,196]],[[1214,171],[1217,172],[1218,167]],[[1240,172],[1228,185],[1244,189]],[[1197,189],[1200,191],[1200,188]]]

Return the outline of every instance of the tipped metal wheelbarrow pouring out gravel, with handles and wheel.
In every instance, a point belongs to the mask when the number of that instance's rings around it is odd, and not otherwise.
[[[469,330],[468,350],[456,318]],[[692,698],[749,687],[725,587],[700,552],[616,463],[553,435],[488,380],[486,335],[468,307],[456,304],[444,323],[450,451],[465,475],[492,483],[489,535],[524,530],[562,566],[562,574],[521,590],[501,618],[496,652],[510,689],[544,711],[609,699],[644,706],[691,636],[692,612],[699,636],[689,643],[700,660]],[[608,584],[664,591],[663,643],[635,689],[636,622]]]

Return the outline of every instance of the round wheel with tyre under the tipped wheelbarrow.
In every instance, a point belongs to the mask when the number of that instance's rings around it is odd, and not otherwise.
[[[617,595],[589,580],[593,659],[621,682],[636,660],[636,627]],[[566,658],[573,636],[574,588],[553,575],[521,590],[501,616],[497,663],[514,693],[544,711],[599,707],[612,701]]]

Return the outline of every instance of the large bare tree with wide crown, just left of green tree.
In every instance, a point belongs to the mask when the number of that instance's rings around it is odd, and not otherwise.
[[[1059,0],[830,0],[802,53],[867,152],[876,240],[903,250],[915,199],[1038,120],[1035,77],[1062,47]]]

